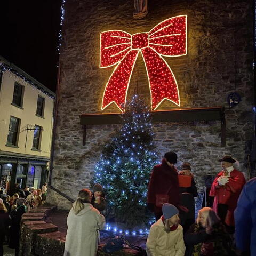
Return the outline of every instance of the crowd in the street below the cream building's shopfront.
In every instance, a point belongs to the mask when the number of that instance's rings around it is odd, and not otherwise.
[[[44,204],[47,194],[47,184],[41,189],[33,187],[20,188],[17,183],[6,195],[0,191],[0,256],[3,256],[3,245],[8,244],[19,255],[20,223],[23,213],[31,208]]]

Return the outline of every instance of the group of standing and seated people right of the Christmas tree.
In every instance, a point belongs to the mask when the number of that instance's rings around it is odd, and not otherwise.
[[[256,178],[246,183],[231,156],[218,161],[222,170],[211,186],[213,206],[199,210],[195,223],[197,188],[190,164],[178,171],[177,154],[168,152],[154,167],[148,207],[157,221],[149,231],[148,256],[256,255]]]

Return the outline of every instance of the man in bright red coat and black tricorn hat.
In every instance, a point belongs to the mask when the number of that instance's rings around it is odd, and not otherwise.
[[[234,169],[233,164],[236,161],[231,156],[224,156],[218,161],[221,162],[222,171],[214,179],[210,191],[210,196],[214,197],[213,210],[230,233],[234,233],[234,211],[245,184],[245,178],[242,172]]]

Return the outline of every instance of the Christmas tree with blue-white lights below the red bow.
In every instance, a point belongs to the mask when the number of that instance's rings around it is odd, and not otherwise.
[[[153,166],[159,162],[151,114],[136,95],[121,115],[121,129],[106,142],[95,166],[93,182],[107,194],[106,217],[133,228],[148,223],[147,189]]]

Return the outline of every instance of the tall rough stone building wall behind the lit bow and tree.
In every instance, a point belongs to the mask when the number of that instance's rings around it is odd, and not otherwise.
[[[220,122],[154,124],[159,151],[174,150],[179,161],[189,161],[199,185],[204,173],[219,171],[216,161],[231,154],[243,166],[244,144],[252,136],[253,47],[252,6],[238,0],[151,0],[146,18],[132,18],[133,1],[66,0],[63,43],[60,52],[60,85],[57,136],[52,185],[72,198],[89,186],[102,145],[115,125],[87,126],[86,145],[79,115],[110,113],[101,111],[105,85],[114,67],[99,68],[100,32],[118,29],[130,34],[149,31],[159,22],[176,15],[188,15],[188,53],[164,59],[179,86],[181,108],[226,107],[227,145],[220,147]],[[236,90],[242,96],[238,106],[229,109],[227,96]],[[139,55],[132,74],[128,97],[141,95],[149,103],[146,69]],[[177,108],[164,101],[158,108]],[[180,166],[181,162],[178,163]],[[50,189],[49,189],[50,190]],[[52,190],[50,201],[68,209],[63,197]]]

